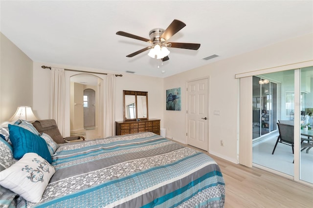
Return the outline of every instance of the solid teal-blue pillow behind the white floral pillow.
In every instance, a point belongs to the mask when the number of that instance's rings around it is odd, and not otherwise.
[[[19,160],[25,153],[34,152],[52,163],[49,149],[43,138],[17,125],[9,124],[9,133],[15,159]]]

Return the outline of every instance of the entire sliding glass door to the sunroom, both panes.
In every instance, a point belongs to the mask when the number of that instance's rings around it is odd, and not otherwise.
[[[313,184],[313,66],[253,76],[252,82],[253,164]],[[278,122],[291,126],[298,149],[275,147]]]

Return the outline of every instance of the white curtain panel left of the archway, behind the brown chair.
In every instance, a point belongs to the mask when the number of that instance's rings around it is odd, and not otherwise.
[[[64,137],[65,78],[64,69],[51,68],[50,119],[54,119]]]

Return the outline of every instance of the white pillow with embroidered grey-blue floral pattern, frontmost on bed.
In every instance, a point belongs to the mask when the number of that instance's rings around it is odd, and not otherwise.
[[[37,153],[29,152],[9,168],[0,172],[0,185],[38,203],[55,169]]]

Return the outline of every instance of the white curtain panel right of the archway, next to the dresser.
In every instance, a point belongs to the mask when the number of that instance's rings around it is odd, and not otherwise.
[[[106,80],[106,99],[105,99],[105,124],[104,136],[110,137],[115,134],[115,75],[108,74]]]

